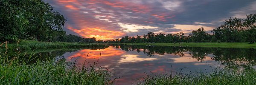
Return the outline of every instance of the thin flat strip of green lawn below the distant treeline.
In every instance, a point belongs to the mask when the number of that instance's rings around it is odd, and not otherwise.
[[[183,43],[111,43],[124,45],[161,45],[161,46],[188,46],[188,47],[209,47],[209,48],[256,48],[256,43],[248,42],[183,42]]]

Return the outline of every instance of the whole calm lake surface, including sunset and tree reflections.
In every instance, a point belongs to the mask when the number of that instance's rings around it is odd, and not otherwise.
[[[221,68],[255,68],[256,49],[179,46],[109,45],[108,48],[42,51],[41,59],[66,59],[76,64],[96,62],[113,72],[114,84],[136,84],[146,74],[203,72]]]

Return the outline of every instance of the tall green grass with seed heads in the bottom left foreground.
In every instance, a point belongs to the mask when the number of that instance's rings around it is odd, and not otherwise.
[[[7,42],[5,47],[8,49]],[[110,71],[96,68],[95,63],[85,67],[85,63],[78,66],[60,59],[29,64],[24,57],[19,52],[12,57],[7,51],[0,52],[0,85],[111,85],[115,80]],[[32,55],[28,59],[33,60]]]

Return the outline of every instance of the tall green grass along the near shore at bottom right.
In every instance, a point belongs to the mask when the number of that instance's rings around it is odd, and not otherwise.
[[[256,85],[256,71],[216,70],[209,74],[148,75],[139,85]]]

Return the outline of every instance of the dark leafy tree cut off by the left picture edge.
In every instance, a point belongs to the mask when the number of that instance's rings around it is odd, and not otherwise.
[[[14,41],[24,36],[29,21],[26,19],[26,11],[18,6],[21,2],[0,0],[0,41]]]

